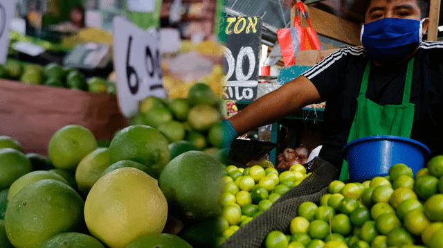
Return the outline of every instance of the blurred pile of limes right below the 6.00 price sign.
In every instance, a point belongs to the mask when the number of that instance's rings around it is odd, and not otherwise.
[[[187,98],[145,98],[131,123],[159,130],[170,143],[171,158],[183,150],[217,154],[223,141],[220,113],[221,100],[209,85],[197,83],[189,89]]]

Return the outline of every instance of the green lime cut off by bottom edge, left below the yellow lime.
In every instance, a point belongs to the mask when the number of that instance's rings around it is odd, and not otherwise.
[[[83,233],[59,233],[40,245],[39,248],[84,248],[96,247],[105,248],[105,246],[89,235]]]

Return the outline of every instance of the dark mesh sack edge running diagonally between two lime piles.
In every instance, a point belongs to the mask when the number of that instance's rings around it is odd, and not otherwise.
[[[291,188],[272,206],[246,223],[230,236],[221,248],[258,248],[270,231],[288,231],[302,202],[318,202],[327,193],[327,186],[336,179],[338,170],[331,163],[316,157],[312,160],[312,174],[298,186]]]

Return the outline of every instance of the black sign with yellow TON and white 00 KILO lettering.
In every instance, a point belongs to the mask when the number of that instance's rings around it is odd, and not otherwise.
[[[221,21],[226,34],[224,98],[254,100],[257,96],[262,17],[227,17]]]

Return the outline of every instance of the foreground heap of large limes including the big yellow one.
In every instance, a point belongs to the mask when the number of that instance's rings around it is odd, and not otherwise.
[[[67,125],[48,157],[0,136],[0,246],[214,247],[198,228],[221,212],[224,166],[198,150],[171,159],[168,145],[147,125],[124,128],[109,148]]]

